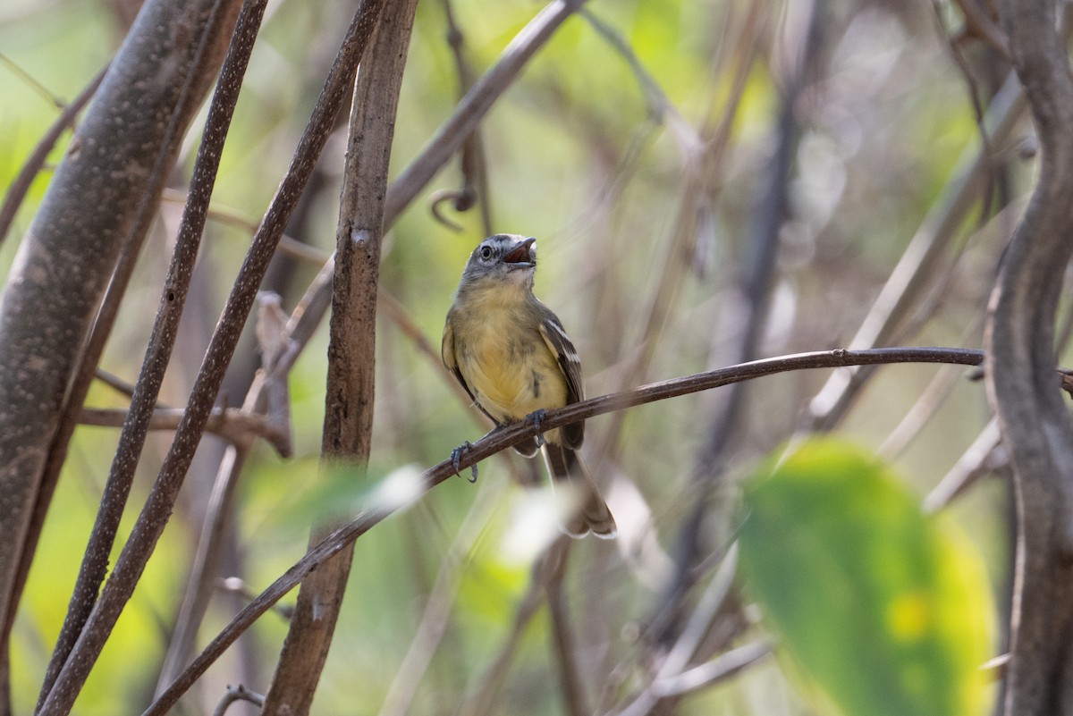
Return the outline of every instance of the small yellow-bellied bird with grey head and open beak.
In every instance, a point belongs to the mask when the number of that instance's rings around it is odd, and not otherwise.
[[[530,416],[539,421],[542,411],[585,398],[574,344],[533,296],[535,271],[536,239],[488,237],[470,255],[443,328],[443,363],[497,427]],[[553,483],[569,481],[580,495],[563,532],[611,539],[617,534],[615,518],[577,454],[584,435],[585,424],[575,422],[516,449],[533,457],[543,448]]]

